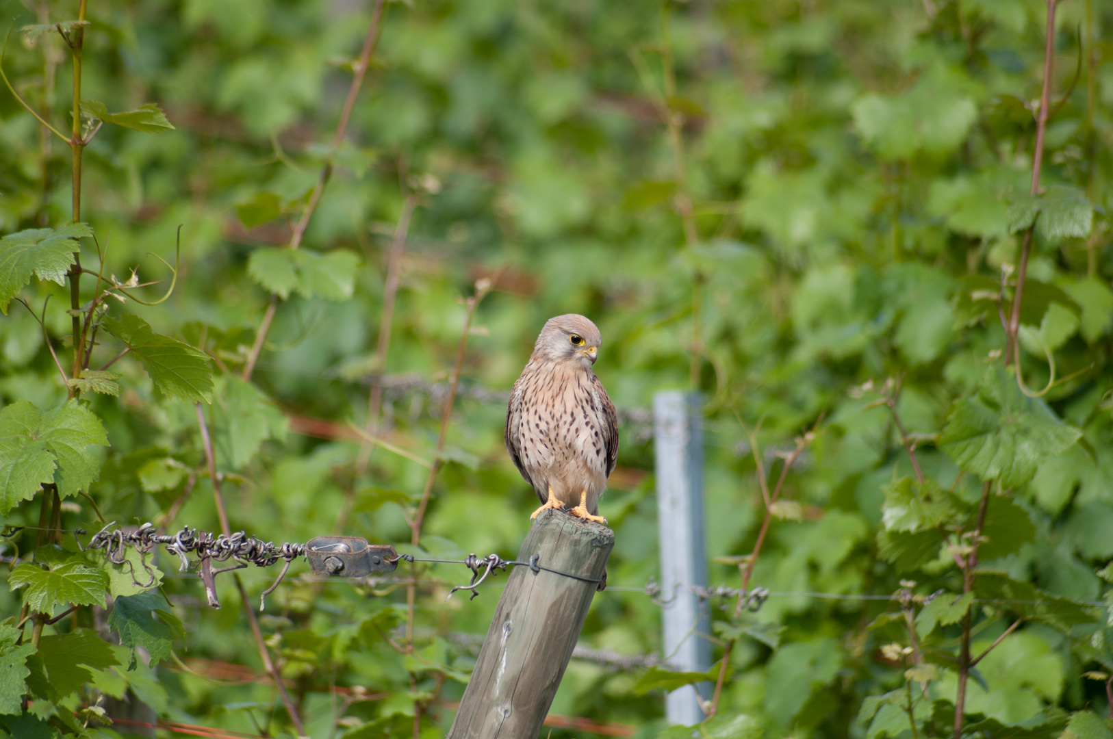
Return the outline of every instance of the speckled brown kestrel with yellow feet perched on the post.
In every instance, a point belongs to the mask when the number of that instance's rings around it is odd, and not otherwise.
[[[514,383],[506,408],[506,450],[545,509],[607,523],[599,496],[619,455],[614,405],[591,365],[602,337],[588,318],[550,318]]]

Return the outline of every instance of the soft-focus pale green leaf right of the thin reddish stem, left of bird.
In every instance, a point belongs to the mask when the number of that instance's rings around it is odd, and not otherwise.
[[[286,439],[287,420],[256,385],[236,376],[221,382],[213,403],[217,460],[239,470],[267,439]]]

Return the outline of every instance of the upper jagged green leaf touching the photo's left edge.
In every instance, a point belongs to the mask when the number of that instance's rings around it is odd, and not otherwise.
[[[82,236],[92,236],[86,224],[29,228],[0,238],[0,312],[8,315],[11,298],[31,282],[32,274],[65,285],[73,254],[81,249],[77,239]]]

